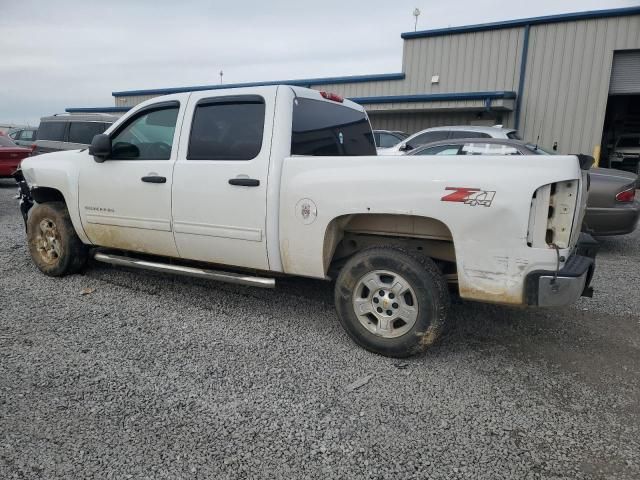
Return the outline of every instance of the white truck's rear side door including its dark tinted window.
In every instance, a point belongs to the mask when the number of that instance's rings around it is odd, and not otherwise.
[[[181,257],[269,268],[267,174],[275,98],[273,88],[191,94],[173,177]]]

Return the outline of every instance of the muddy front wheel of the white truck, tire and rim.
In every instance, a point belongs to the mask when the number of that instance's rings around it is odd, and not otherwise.
[[[51,277],[76,273],[87,263],[89,249],[78,238],[62,202],[36,204],[31,209],[27,241],[33,262]]]

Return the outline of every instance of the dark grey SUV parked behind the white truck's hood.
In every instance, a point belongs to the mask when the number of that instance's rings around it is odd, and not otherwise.
[[[42,117],[35,141],[34,155],[88,148],[93,137],[104,133],[118,117],[104,113],[62,113]]]

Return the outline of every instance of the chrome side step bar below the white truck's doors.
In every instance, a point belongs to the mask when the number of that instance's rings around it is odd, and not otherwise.
[[[236,283],[238,285],[249,285],[251,287],[275,288],[276,281],[273,278],[252,277],[240,273],[221,272],[217,270],[206,270],[203,268],[183,267],[180,265],[170,265],[168,263],[150,262],[137,258],[123,257],[111,253],[96,252],[93,258],[99,262],[120,265],[123,267],[140,268],[142,270],[153,270],[155,272],[174,273],[187,277],[206,278],[220,282]]]

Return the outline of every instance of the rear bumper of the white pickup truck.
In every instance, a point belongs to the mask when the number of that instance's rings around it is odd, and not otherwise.
[[[581,233],[574,253],[560,270],[538,270],[527,275],[527,304],[560,307],[574,303],[581,296],[591,297],[590,284],[597,251],[598,243],[590,235]]]

